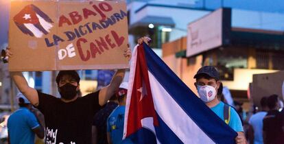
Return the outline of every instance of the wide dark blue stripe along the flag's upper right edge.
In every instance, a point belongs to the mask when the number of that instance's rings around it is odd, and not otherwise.
[[[201,130],[215,143],[235,143],[237,132],[205,106],[148,45],[143,43],[143,47],[148,70]]]

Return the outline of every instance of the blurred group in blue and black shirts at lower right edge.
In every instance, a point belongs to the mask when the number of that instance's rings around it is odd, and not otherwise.
[[[278,95],[262,97],[261,108],[247,119],[247,137],[250,143],[284,143],[284,112]]]

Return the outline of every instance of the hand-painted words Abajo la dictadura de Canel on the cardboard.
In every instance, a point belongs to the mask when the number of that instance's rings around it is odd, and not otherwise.
[[[70,12],[69,18],[67,16],[61,15],[59,19],[58,27],[62,27],[64,25],[75,25],[77,23],[80,23],[82,19],[88,19],[89,16],[97,16],[97,14],[101,16],[102,20],[99,21],[99,23],[95,23],[95,22],[84,23],[83,25],[78,26],[78,28],[75,28],[73,31],[64,32],[64,34],[66,35],[65,38],[60,38],[60,36],[56,36],[56,34],[54,34],[52,43],[49,41],[48,38],[45,38],[47,47],[58,45],[58,43],[64,42],[65,40],[72,41],[75,38],[79,38],[77,40],[76,45],[78,47],[81,60],[86,61],[86,60],[89,60],[91,57],[95,58],[95,55],[97,53],[102,54],[105,50],[108,50],[109,47],[113,49],[114,47],[121,46],[125,38],[123,36],[118,36],[117,32],[111,31],[111,34],[107,34],[104,37],[100,37],[99,39],[93,40],[93,42],[90,42],[91,52],[86,51],[86,56],[84,55],[82,47],[81,47],[81,43],[88,43],[88,41],[85,38],[81,38],[82,36],[89,34],[89,33],[93,33],[97,29],[106,29],[110,25],[115,25],[115,23],[117,23],[120,20],[123,20],[127,16],[126,12],[123,12],[122,10],[120,10],[120,13],[115,13],[113,14],[113,16],[110,16],[110,18],[107,18],[104,12],[110,12],[111,10],[113,10],[113,8],[111,7],[111,5],[109,5],[108,3],[104,3],[104,2],[99,3],[99,7],[97,7],[97,5],[93,5],[93,8],[94,8],[94,11],[89,10],[88,8],[82,9],[83,15],[79,14],[79,12],[76,12],[76,11]],[[115,40],[115,43],[112,42],[110,37],[113,37],[113,39]],[[68,45],[67,50],[60,49],[58,51],[58,58],[62,60],[63,58],[67,56],[67,53],[68,53],[69,58],[75,56],[74,54],[75,51],[73,49],[70,49],[70,45]]]

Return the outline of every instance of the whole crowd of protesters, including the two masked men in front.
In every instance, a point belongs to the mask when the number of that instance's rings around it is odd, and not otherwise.
[[[138,43],[148,41],[143,37]],[[6,52],[9,57],[12,56],[9,50]],[[130,54],[128,49],[125,56],[129,58]],[[10,143],[34,143],[35,134],[39,138],[45,138],[45,143],[135,143],[132,139],[122,140],[128,88],[128,83],[122,82],[124,73],[124,69],[117,70],[108,86],[95,93],[78,97],[78,73],[60,71],[56,83],[61,97],[56,98],[29,87],[21,72],[10,72],[12,80],[22,93],[19,97],[20,109],[8,120]],[[246,121],[239,115],[241,106],[236,107],[236,110],[218,97],[222,93],[222,82],[217,69],[204,66],[194,78],[200,99],[237,132],[237,144],[284,143],[284,117],[283,112],[279,111],[280,102],[277,95],[261,99],[261,111],[249,117],[250,126],[244,129]],[[43,113],[44,123],[40,123],[38,116],[32,112],[32,106]]]

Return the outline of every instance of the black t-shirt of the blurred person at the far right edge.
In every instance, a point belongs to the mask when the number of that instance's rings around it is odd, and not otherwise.
[[[284,139],[282,130],[282,119],[281,112],[278,110],[270,110],[268,114],[263,118],[263,132],[265,132],[266,141],[269,144],[283,144]]]

